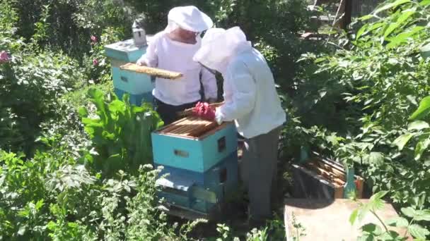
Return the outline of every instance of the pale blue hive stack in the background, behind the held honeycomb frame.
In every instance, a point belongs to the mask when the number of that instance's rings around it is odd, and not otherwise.
[[[151,41],[150,37],[148,41]],[[145,52],[146,46],[136,47],[133,39],[105,46],[105,54],[111,62],[115,94],[120,99],[123,94],[130,94],[130,103],[137,106],[140,106],[142,101],[152,102],[151,92],[155,83],[149,75],[121,70],[120,66],[135,63]]]

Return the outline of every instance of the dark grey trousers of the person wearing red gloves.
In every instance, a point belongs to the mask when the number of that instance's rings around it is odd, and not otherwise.
[[[242,174],[248,183],[251,220],[262,221],[272,216],[271,199],[277,188],[277,157],[281,127],[270,132],[245,138]]]

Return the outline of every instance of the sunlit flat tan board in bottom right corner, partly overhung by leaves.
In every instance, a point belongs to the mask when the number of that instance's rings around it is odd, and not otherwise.
[[[366,204],[368,199],[359,199]],[[303,225],[306,236],[300,237],[301,241],[337,241],[356,240],[360,235],[360,228],[366,223],[380,225],[378,219],[370,213],[362,221],[357,220],[354,225],[349,223],[349,216],[359,205],[349,199],[286,199],[284,206],[284,220],[288,240],[296,234],[292,223],[292,216],[296,217],[296,223]],[[391,204],[385,203],[383,209],[376,211],[384,221],[398,217]],[[393,228],[403,235],[405,228]],[[412,237],[408,237],[412,240]]]

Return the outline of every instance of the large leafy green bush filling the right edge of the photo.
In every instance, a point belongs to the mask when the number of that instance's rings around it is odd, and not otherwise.
[[[429,7],[385,1],[355,33],[328,39],[333,51],[304,54],[293,97],[308,152],[354,163],[373,192],[414,209],[430,207]]]

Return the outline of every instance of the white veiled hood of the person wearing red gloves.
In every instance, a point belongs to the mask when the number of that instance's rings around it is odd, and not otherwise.
[[[223,73],[232,56],[250,49],[251,42],[246,40],[240,27],[228,30],[211,28],[204,34],[202,47],[194,54],[193,60]]]

